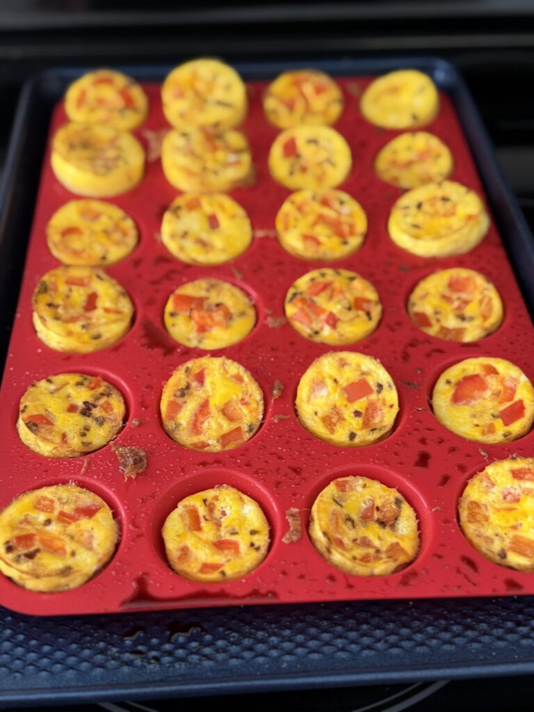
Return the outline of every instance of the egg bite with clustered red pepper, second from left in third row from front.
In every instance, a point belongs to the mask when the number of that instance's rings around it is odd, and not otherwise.
[[[256,310],[244,291],[233,284],[197,279],[170,295],[164,322],[172,338],[184,346],[223,349],[251,333]]]

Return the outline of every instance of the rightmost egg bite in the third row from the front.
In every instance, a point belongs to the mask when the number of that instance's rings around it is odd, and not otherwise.
[[[503,320],[503,303],[479,272],[454,267],[422,279],[408,298],[410,319],[424,333],[446,341],[473,342]]]

